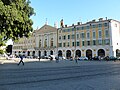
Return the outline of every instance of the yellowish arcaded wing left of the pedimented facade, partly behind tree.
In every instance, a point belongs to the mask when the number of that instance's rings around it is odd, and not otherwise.
[[[13,43],[13,54],[23,54],[25,56],[35,56],[35,31],[29,38],[23,37]]]

